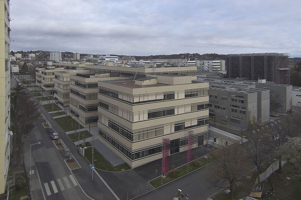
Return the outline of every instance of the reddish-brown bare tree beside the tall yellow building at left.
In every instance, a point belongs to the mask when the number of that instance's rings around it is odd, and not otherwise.
[[[20,158],[22,145],[34,128],[34,119],[38,117],[37,106],[30,99],[29,94],[15,92],[12,95],[11,112],[15,127],[14,143],[18,147],[18,158]]]

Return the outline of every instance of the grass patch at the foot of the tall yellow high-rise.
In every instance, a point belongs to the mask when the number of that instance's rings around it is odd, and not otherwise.
[[[28,196],[25,173],[15,174],[15,185],[10,187],[9,200],[19,200],[20,197]],[[27,198],[29,199],[29,198]]]

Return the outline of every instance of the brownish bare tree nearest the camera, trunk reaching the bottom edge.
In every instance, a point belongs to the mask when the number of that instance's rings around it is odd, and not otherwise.
[[[214,187],[223,187],[229,184],[230,197],[233,199],[234,187],[239,184],[239,179],[249,172],[246,151],[241,145],[232,144],[224,146],[213,153],[216,159],[208,181]]]

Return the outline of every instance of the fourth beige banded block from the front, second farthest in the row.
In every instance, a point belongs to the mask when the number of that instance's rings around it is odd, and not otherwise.
[[[55,71],[64,71],[64,68],[41,68],[41,88],[43,88],[46,92],[54,93]],[[39,83],[38,79],[36,80],[36,82]]]

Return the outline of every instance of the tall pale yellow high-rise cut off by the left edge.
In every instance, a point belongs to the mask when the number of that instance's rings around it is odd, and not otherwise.
[[[0,0],[0,194],[5,193],[10,161],[10,24],[9,0]]]

